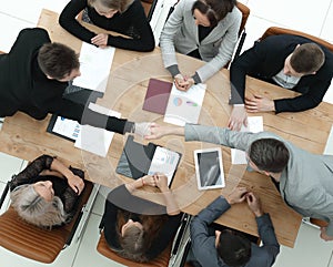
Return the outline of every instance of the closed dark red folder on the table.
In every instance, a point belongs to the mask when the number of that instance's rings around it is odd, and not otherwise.
[[[142,110],[164,115],[171,89],[171,82],[150,79]]]

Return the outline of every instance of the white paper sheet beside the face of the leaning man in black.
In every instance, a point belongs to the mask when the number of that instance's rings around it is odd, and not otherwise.
[[[101,49],[82,42],[79,59],[81,76],[73,80],[73,85],[104,93],[114,51],[112,47]]]

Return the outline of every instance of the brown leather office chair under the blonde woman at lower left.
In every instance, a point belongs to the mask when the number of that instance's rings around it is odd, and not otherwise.
[[[84,181],[84,191],[81,194],[78,212],[72,222],[51,230],[23,222],[13,207],[9,206],[0,216],[0,246],[37,261],[52,263],[59,253],[71,244],[83,213],[88,212],[85,204],[89,196],[92,195],[93,184],[89,181]],[[0,208],[8,191],[9,182],[2,193]]]

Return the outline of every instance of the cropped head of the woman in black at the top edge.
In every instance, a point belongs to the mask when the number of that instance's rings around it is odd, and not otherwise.
[[[111,19],[117,12],[124,12],[133,0],[88,0],[88,4],[100,14]]]

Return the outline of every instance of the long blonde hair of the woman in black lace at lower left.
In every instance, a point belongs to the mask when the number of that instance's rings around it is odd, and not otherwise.
[[[51,202],[47,202],[36,192],[33,184],[16,187],[10,193],[10,198],[13,208],[27,223],[42,228],[52,228],[67,222],[60,197],[54,196]]]

